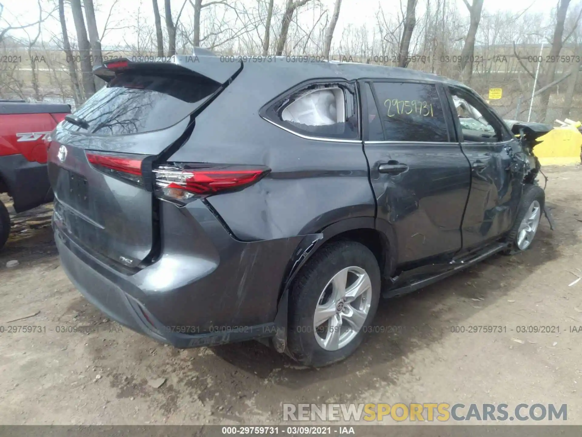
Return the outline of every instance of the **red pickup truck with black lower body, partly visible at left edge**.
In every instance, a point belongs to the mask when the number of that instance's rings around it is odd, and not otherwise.
[[[0,100],[0,193],[17,213],[51,202],[45,136],[70,114],[70,106]],[[10,233],[10,216],[0,201],[0,248]]]

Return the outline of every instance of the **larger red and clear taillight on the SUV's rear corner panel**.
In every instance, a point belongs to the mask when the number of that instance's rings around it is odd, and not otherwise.
[[[160,165],[154,169],[158,194],[168,200],[205,198],[253,185],[268,172],[264,165]]]

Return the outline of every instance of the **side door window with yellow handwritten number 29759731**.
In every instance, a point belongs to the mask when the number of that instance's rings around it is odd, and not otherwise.
[[[434,84],[374,82],[386,141],[448,142]]]

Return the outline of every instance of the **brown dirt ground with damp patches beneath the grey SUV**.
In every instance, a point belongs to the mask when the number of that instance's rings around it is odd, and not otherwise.
[[[50,207],[15,216],[0,251],[0,424],[273,424],[282,402],[566,403],[567,423],[582,424],[582,332],[570,332],[582,281],[569,286],[582,276],[582,170],[546,174],[556,230],[542,218],[528,251],[381,301],[378,331],[397,332],[367,334],[319,370],[255,342],[178,350],[120,327],[59,266]],[[23,325],[41,328],[8,333]],[[506,332],[451,332],[472,325]],[[560,333],[517,332],[529,325]]]

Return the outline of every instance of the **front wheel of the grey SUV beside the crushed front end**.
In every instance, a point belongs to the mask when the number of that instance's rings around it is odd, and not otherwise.
[[[544,205],[545,193],[540,186],[524,186],[517,217],[512,230],[509,231],[508,242],[511,246],[506,254],[523,252],[531,246],[540,226]]]

